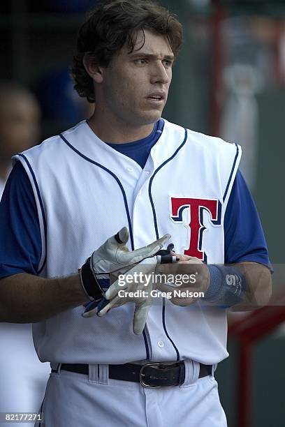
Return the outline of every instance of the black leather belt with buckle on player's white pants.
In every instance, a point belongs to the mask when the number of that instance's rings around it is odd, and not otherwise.
[[[62,370],[69,372],[89,374],[89,365],[86,364],[61,364]],[[57,370],[52,369],[52,372]],[[212,365],[200,364],[199,378],[212,374]],[[169,387],[184,383],[184,361],[173,364],[149,363],[145,365],[122,364],[109,365],[109,378],[113,380],[140,382],[144,387]]]

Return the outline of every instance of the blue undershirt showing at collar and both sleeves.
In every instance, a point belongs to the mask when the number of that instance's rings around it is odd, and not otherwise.
[[[127,144],[109,144],[142,167],[159,139],[163,120],[151,135]],[[0,278],[17,273],[38,274],[41,231],[36,201],[27,173],[20,162],[13,167],[0,203]],[[225,262],[253,261],[270,267],[268,249],[247,184],[238,172],[224,219]]]

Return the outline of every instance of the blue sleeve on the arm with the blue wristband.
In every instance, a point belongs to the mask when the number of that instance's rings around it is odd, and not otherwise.
[[[261,220],[240,171],[226,207],[224,232],[226,264],[251,261],[271,269]]]

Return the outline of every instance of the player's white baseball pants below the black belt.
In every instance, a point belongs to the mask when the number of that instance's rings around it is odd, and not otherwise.
[[[59,370],[47,383],[44,426],[226,427],[216,380],[197,377],[192,361],[184,384],[159,389],[109,379],[108,365],[89,366],[89,375]]]

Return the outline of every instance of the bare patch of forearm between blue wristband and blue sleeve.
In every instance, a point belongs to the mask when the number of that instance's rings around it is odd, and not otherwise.
[[[253,310],[265,306],[272,294],[272,278],[268,267],[257,262],[241,262],[235,264],[243,275],[246,283],[246,292],[240,304],[231,307],[232,311]]]

